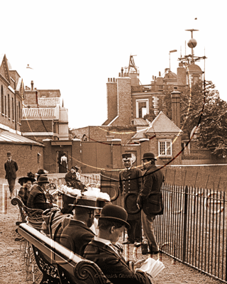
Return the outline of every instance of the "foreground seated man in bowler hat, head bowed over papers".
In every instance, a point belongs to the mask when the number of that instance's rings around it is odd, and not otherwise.
[[[114,246],[125,227],[130,227],[126,222],[128,218],[126,210],[117,205],[108,204],[101,210],[98,218],[99,234],[94,236],[85,248],[84,258],[94,261],[111,283],[150,284],[151,276],[140,269],[134,271],[132,262],[126,263]]]

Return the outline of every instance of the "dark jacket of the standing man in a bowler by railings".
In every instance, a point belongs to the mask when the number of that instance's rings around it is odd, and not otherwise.
[[[158,170],[156,165],[150,165],[150,168],[143,174],[143,186],[140,191],[140,204],[143,212],[147,215],[163,214],[163,202],[161,187],[164,182],[164,175]]]

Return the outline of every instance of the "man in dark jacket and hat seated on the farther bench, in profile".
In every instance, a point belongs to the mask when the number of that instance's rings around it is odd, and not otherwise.
[[[38,185],[32,187],[31,192],[28,196],[27,207],[32,209],[48,209],[53,206],[57,206],[52,203],[48,203],[45,197],[45,190],[48,184],[48,177],[40,176]]]

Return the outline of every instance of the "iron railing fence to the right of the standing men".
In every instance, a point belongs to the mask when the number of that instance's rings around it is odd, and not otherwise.
[[[155,219],[160,249],[227,283],[225,192],[163,184],[162,197],[165,211]]]

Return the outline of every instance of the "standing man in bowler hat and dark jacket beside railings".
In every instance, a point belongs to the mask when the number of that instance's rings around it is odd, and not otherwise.
[[[154,233],[154,220],[156,215],[163,214],[163,203],[161,187],[164,182],[164,175],[155,165],[155,155],[144,153],[142,164],[145,170],[143,185],[138,195],[137,204],[141,210],[143,232],[148,239],[150,253],[159,252]]]

